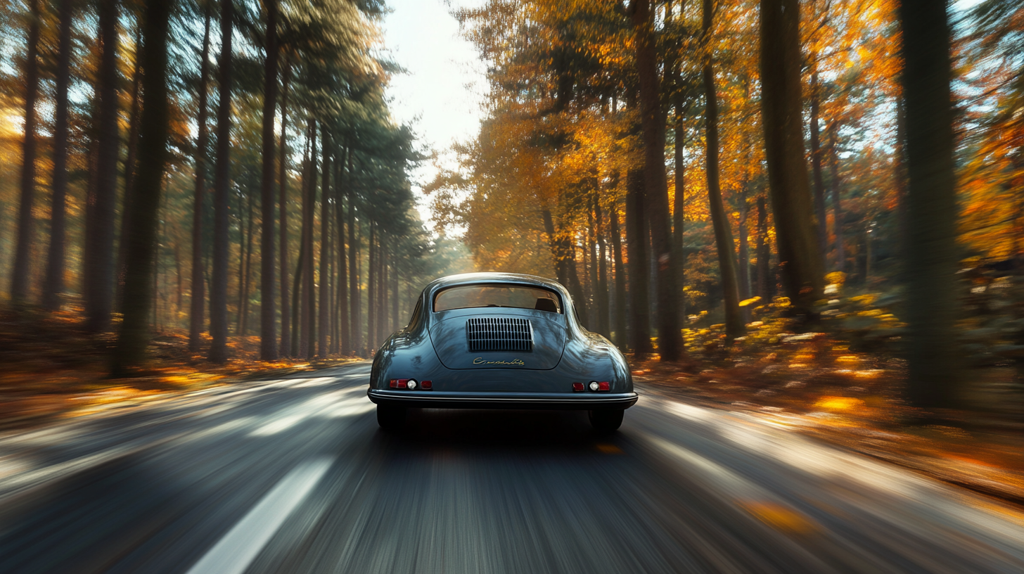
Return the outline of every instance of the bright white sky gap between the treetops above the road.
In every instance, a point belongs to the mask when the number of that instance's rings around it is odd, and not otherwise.
[[[391,112],[398,122],[413,122],[420,144],[438,152],[472,139],[479,128],[484,69],[451,14],[453,5],[479,4],[482,0],[388,2],[392,12],[384,20],[384,45],[408,71],[391,79]],[[419,184],[435,174],[433,165],[423,165],[413,176],[414,191],[419,194]],[[427,219],[427,198],[418,199]]]

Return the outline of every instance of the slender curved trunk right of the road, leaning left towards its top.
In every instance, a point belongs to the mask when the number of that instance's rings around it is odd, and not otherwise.
[[[703,40],[711,44],[714,10],[712,0],[703,0]],[[708,56],[703,67],[705,87],[705,172],[708,176],[708,205],[712,227],[715,229],[715,246],[718,250],[718,271],[722,281],[722,305],[725,308],[725,334],[728,340],[742,336],[743,318],[739,314],[739,289],[736,284],[736,261],[733,254],[732,230],[725,206],[718,173],[718,92],[715,89],[715,67]],[[663,312],[664,313],[664,312]]]

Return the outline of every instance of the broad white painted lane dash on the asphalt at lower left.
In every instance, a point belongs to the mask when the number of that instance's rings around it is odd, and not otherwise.
[[[188,570],[188,574],[245,572],[333,463],[333,457],[317,458],[289,473]]]

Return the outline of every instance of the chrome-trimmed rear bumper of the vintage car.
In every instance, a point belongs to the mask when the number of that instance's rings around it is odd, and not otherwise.
[[[636,393],[435,393],[433,391],[367,392],[378,405],[420,409],[622,410],[637,403]]]

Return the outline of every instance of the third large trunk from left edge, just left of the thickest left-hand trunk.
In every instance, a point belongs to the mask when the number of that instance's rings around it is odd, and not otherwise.
[[[86,218],[85,286],[86,329],[96,333],[111,324],[114,297],[114,204],[118,189],[118,0],[99,0],[99,59],[96,95],[96,184]]]

